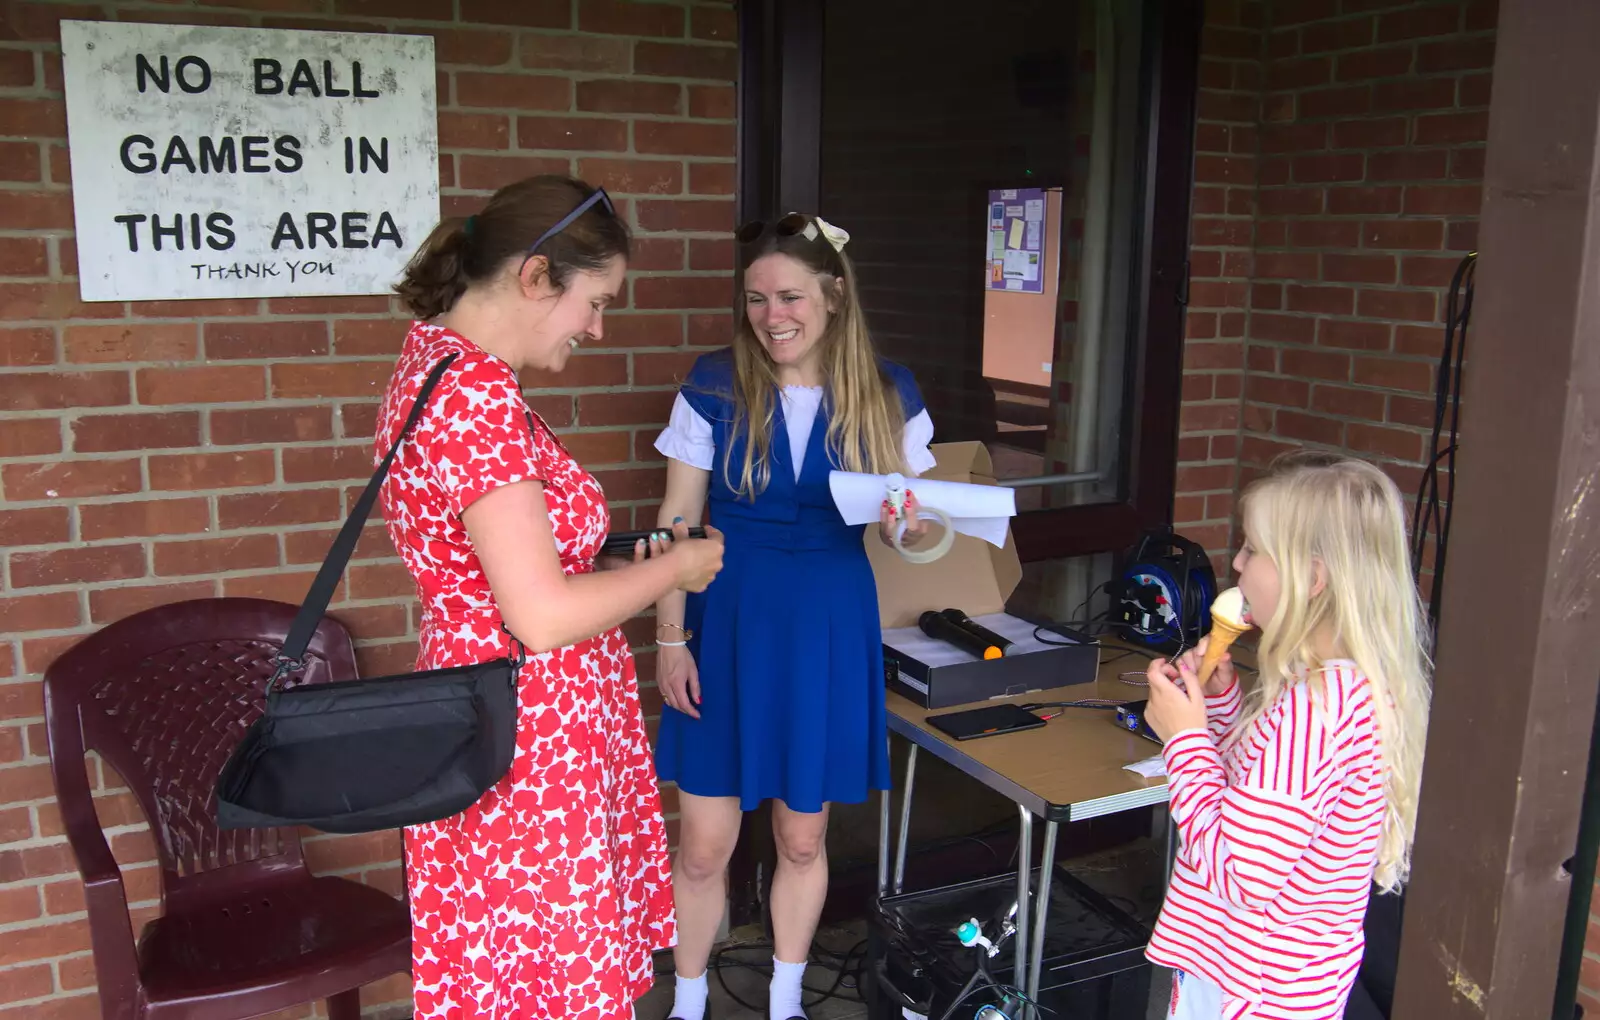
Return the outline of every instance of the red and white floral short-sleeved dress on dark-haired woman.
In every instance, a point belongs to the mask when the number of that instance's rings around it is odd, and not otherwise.
[[[429,670],[507,654],[461,512],[539,480],[566,574],[594,569],[598,483],[534,417],[499,358],[416,325],[378,416],[381,459],[429,371],[456,360],[381,502],[422,600]],[[619,630],[530,655],[510,772],[467,811],[405,830],[418,1020],[630,1018],[672,945],[672,883],[634,657]]]

